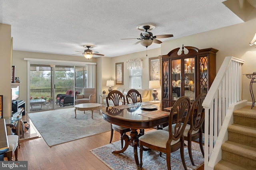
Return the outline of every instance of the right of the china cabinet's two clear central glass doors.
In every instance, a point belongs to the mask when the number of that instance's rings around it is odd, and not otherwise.
[[[184,96],[188,96],[190,100],[195,100],[195,58],[184,59]]]

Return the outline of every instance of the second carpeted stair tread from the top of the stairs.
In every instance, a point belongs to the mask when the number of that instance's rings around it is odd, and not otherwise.
[[[243,135],[256,137],[256,128],[255,127],[248,127],[244,125],[232,124],[228,126],[228,131],[234,133],[240,133]]]

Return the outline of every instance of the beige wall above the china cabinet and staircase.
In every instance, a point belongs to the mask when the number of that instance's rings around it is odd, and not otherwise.
[[[198,33],[161,44],[161,53],[167,54],[170,49],[184,46],[194,46],[199,49],[215,48],[219,51],[216,53],[216,70],[218,71],[224,58],[227,56],[236,57],[245,61],[242,65],[242,74],[256,71],[256,48],[250,46],[256,32],[256,19],[244,23]],[[174,35],[175,37],[175,35]],[[243,76],[243,100],[252,102],[250,95],[250,80]],[[256,93],[256,84],[254,84]]]

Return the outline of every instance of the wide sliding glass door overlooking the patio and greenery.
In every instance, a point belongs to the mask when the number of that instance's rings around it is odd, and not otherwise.
[[[76,94],[82,93],[83,88],[96,87],[96,64],[40,64],[33,61],[29,66],[29,112],[73,107]],[[66,93],[72,98],[57,100],[60,94]]]

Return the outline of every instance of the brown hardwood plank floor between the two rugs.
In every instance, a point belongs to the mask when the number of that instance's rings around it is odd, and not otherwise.
[[[28,170],[110,170],[90,152],[107,145],[109,140],[110,131],[53,147],[49,147],[42,137],[22,141],[18,160],[27,160]],[[112,143],[118,140],[120,134],[114,131]],[[201,166],[198,170],[203,169]]]

